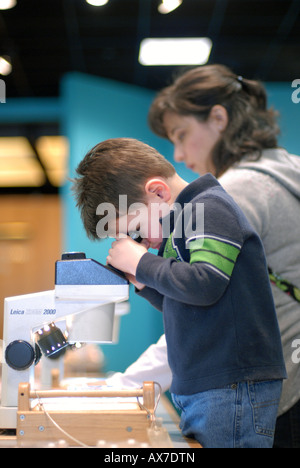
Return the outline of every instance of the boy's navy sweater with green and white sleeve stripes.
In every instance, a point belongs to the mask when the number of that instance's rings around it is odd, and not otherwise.
[[[142,257],[136,274],[146,285],[139,294],[163,311],[171,392],[286,378],[259,236],[211,175],[189,184],[175,206],[171,235],[158,256]]]

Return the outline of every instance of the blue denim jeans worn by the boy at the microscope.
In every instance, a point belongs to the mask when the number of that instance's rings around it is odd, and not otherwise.
[[[183,434],[204,448],[272,448],[281,390],[281,380],[240,382],[172,398]]]

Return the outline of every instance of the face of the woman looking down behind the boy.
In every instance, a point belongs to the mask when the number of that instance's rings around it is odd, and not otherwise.
[[[215,119],[200,122],[193,116],[174,112],[164,115],[164,127],[174,145],[174,159],[199,175],[210,172],[216,175],[212,152],[221,137],[221,129]]]

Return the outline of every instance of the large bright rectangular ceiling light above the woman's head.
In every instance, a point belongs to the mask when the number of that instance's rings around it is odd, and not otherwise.
[[[147,38],[140,45],[141,65],[203,65],[207,63],[212,41],[200,38]]]

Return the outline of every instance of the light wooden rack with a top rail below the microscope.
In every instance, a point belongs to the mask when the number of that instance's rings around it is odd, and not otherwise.
[[[63,398],[76,398],[74,409],[63,405]],[[138,401],[124,401],[113,403],[109,409],[95,404],[95,409],[78,409],[80,398],[143,398],[140,406]],[[55,398],[58,409],[47,409],[44,399]],[[38,400],[36,406],[31,407],[31,400]],[[43,400],[42,404],[40,404]],[[65,400],[66,401],[66,400]],[[76,400],[74,400],[76,401]],[[78,403],[79,402],[79,403]],[[55,406],[55,405],[54,405]],[[126,408],[128,406],[128,408]],[[144,382],[142,389],[136,390],[99,390],[99,391],[31,391],[30,384],[19,385],[17,412],[17,440],[18,443],[41,444],[43,441],[55,442],[64,440],[71,446],[96,446],[100,440],[108,444],[117,444],[128,439],[139,442],[148,440],[147,429],[154,414],[155,391],[153,382]],[[77,409],[76,409],[77,408]],[[70,436],[70,437],[69,437]]]

